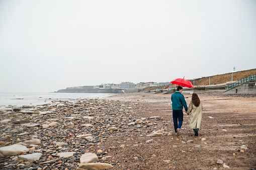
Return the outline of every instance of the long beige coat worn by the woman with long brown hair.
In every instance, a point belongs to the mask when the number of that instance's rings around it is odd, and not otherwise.
[[[192,101],[189,104],[189,108],[187,111],[187,114],[190,114],[190,124],[189,128],[190,129],[195,129],[198,128],[200,129],[201,126],[201,120],[202,120],[202,110],[203,110],[203,105],[202,102],[200,102],[200,105],[196,107]]]

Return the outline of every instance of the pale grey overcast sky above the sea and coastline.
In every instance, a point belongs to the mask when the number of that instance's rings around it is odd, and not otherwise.
[[[256,68],[256,1],[0,0],[0,92]]]

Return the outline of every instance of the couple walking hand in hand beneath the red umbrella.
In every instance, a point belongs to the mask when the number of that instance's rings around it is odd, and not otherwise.
[[[172,107],[173,107],[173,120],[174,120],[174,129],[177,133],[177,136],[180,136],[180,130],[183,122],[183,107],[188,115],[190,115],[190,124],[189,128],[194,130],[195,136],[198,136],[198,130],[200,129],[201,120],[202,120],[202,110],[203,105],[200,102],[200,99],[196,93],[192,94],[192,100],[187,106],[187,102],[184,98],[184,95],[181,94],[183,88],[179,86],[177,91],[172,94]],[[179,124],[178,124],[179,121]]]

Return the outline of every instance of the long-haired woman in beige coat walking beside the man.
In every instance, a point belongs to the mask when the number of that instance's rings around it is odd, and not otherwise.
[[[198,136],[202,120],[203,105],[196,93],[192,94],[192,100],[189,104],[187,114],[190,115],[189,128],[194,130],[195,136]]]

